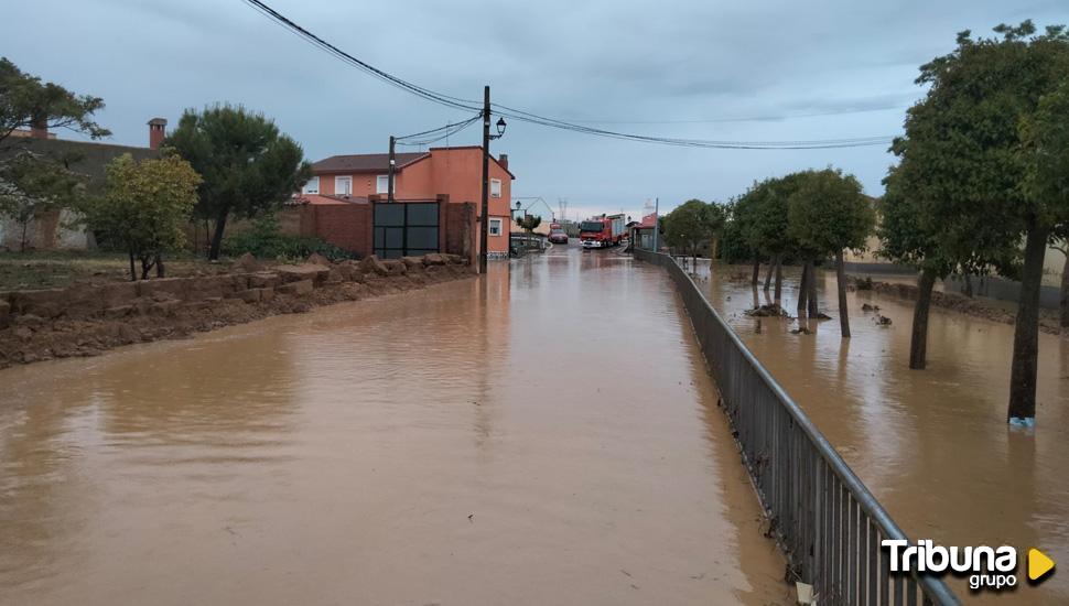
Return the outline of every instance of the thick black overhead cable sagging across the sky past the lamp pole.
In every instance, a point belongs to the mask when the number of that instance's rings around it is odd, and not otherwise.
[[[482,111],[478,107],[477,101],[471,99],[463,99],[460,97],[452,97],[450,95],[444,95],[436,93],[429,88],[424,88],[398,76],[395,76],[388,72],[379,69],[369,63],[360,61],[355,56],[342,51],[334,44],[323,40],[322,37],[315,35],[311,31],[298,25],[292,20],[276,11],[271,7],[267,6],[260,0],[242,0],[246,4],[252,7],[255,10],[264,14],[276,23],[284,26],[287,30],[301,36],[303,40],[307,41],[312,45],[318,47],[322,51],[335,56],[348,63],[349,65],[360,69],[361,72],[371,75],[387,84],[413,94],[425,100],[443,105],[453,109],[465,109],[468,111]],[[644,134],[635,134],[628,132],[618,132],[612,130],[605,130],[601,128],[594,128],[589,126],[583,126],[574,122],[569,122],[565,120],[559,120],[555,118],[548,118],[544,116],[539,116],[529,111],[523,111],[520,109],[511,108],[508,106],[494,104],[494,107],[498,108],[498,115],[512,118],[522,122],[528,122],[532,125],[543,126],[548,128],[555,128],[559,130],[568,130],[572,132],[579,132],[583,134],[591,134],[595,137],[604,137],[609,139],[619,139],[627,141],[637,141],[643,143],[657,143],[662,145],[673,145],[673,147],[689,147],[689,148],[705,148],[705,149],[736,149],[736,150],[811,150],[811,149],[833,149],[833,148],[857,148],[867,145],[886,145],[892,142],[893,137],[859,137],[853,139],[824,139],[824,140],[811,140],[811,141],[721,141],[721,140],[709,140],[709,139],[681,139],[681,138],[670,138],[670,137],[652,137]],[[467,125],[465,125],[467,126]],[[444,138],[444,137],[443,137]]]

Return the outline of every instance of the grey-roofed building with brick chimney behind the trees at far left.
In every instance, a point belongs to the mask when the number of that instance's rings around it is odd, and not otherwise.
[[[0,160],[29,151],[65,162],[69,170],[87,177],[90,193],[99,193],[105,185],[105,167],[111,160],[129,153],[136,160],[159,156],[168,121],[153,118],[149,121],[149,145],[118,145],[99,141],[72,141],[58,139],[45,128],[17,130],[0,149]],[[95,248],[93,235],[75,227],[76,218],[69,210],[53,212],[32,220],[28,227],[28,246],[33,249],[86,249]],[[0,217],[0,248],[18,250],[22,244],[22,226],[8,217]]]

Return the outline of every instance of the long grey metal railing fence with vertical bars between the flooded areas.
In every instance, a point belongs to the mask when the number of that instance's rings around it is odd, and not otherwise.
[[[906,539],[901,529],[679,264],[646,250],[635,258],[676,282],[789,575],[821,605],[959,604],[938,577],[890,573],[881,541]]]

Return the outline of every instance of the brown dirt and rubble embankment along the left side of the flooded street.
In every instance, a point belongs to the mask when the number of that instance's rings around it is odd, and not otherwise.
[[[182,338],[472,275],[455,255],[310,261],[269,271],[0,292],[0,368],[95,356],[121,345]]]

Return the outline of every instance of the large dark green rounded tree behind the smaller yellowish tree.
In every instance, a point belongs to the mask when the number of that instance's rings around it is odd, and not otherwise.
[[[296,142],[271,120],[240,106],[186,110],[164,144],[203,177],[196,215],[215,220],[209,259],[219,258],[231,215],[255,217],[272,210],[312,176]]]

